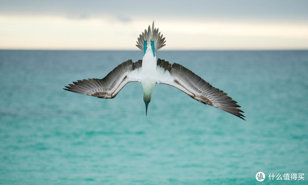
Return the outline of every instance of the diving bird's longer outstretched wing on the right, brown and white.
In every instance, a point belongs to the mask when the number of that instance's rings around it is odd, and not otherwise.
[[[168,84],[180,89],[193,99],[211,105],[237,117],[245,117],[238,109],[236,101],[227,96],[227,93],[213,87],[208,82],[180,64],[169,64],[165,60],[157,60],[157,83]]]

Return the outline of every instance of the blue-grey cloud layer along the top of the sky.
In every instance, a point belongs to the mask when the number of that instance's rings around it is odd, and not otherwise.
[[[0,14],[47,15],[91,18],[118,17],[123,21],[142,19],[207,19],[244,21],[308,21],[308,1],[245,0],[156,0],[146,1],[2,1]]]

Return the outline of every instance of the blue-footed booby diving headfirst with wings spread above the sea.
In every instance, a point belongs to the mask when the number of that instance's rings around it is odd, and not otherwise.
[[[163,34],[160,35],[158,28],[154,28],[153,21],[152,28],[149,25],[148,30],[145,29],[137,41],[136,46],[143,51],[142,60],[137,62],[127,60],[114,68],[103,79],[77,80],[77,82],[73,82],[74,84],[69,84],[63,89],[99,98],[114,98],[128,82],[141,82],[147,116],[155,84],[168,84],[201,103],[244,119],[245,116],[241,114],[244,112],[239,109],[241,106],[227,96],[227,93],[213,87],[180,64],[173,63],[171,65],[165,60],[159,58],[156,60],[155,52],[164,47],[165,42]]]

